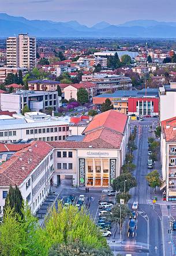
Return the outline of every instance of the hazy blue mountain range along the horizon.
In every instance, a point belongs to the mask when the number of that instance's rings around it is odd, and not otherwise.
[[[0,37],[29,33],[38,37],[176,38],[176,23],[133,20],[112,25],[104,21],[87,27],[77,21],[27,20],[0,13]]]

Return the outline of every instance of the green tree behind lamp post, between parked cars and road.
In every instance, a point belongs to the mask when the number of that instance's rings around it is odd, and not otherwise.
[[[126,204],[115,204],[111,211],[111,221],[115,225],[119,225],[122,228],[123,222],[127,217],[132,215],[129,207]]]

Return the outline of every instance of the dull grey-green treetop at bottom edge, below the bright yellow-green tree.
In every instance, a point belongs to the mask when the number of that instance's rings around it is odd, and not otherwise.
[[[54,244],[51,246],[48,256],[113,256],[110,248],[92,248],[83,243],[74,242],[67,244]]]

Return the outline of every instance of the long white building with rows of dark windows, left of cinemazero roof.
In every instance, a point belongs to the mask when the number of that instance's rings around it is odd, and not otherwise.
[[[29,112],[25,116],[14,114],[13,117],[0,115],[0,142],[61,141],[68,136],[68,118],[53,118],[39,112]]]

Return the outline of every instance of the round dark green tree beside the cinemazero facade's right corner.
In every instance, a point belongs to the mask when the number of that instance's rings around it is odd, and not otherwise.
[[[131,173],[122,173],[113,180],[113,189],[115,191],[129,192],[130,188],[137,185],[136,178]]]

